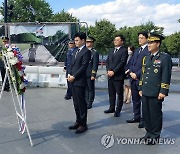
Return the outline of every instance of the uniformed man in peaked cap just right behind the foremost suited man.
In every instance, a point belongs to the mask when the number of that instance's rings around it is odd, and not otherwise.
[[[86,70],[87,86],[86,86],[86,103],[87,108],[91,109],[95,97],[95,78],[99,65],[99,53],[93,48],[95,39],[88,36],[86,39],[86,47],[91,51],[91,60]]]

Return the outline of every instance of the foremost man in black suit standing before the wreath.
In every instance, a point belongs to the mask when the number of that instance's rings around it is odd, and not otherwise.
[[[91,59],[91,51],[85,46],[86,34],[79,32],[75,35],[74,52],[68,81],[72,84],[72,96],[76,112],[76,122],[69,129],[76,129],[75,133],[85,132],[87,128],[87,104],[85,100],[86,69]]]

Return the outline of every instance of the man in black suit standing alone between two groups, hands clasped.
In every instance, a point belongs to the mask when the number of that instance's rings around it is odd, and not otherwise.
[[[109,92],[109,109],[104,113],[114,113],[114,117],[119,117],[123,106],[123,85],[124,85],[124,66],[127,62],[128,51],[123,46],[125,38],[123,35],[116,35],[114,39],[115,48],[110,50],[107,61],[106,70],[108,76],[108,92]],[[117,106],[116,106],[116,94]],[[116,106],[116,110],[115,110]]]

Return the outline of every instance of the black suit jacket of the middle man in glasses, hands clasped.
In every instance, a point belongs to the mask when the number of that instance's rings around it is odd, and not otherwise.
[[[106,70],[113,71],[114,75],[109,79],[124,80],[126,65],[128,58],[128,51],[124,46],[121,46],[119,50],[114,53],[114,49],[110,50],[106,60]]]

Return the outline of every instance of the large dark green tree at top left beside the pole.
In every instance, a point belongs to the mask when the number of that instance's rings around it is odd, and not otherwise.
[[[9,0],[10,5],[13,14],[8,16],[8,22],[48,22],[52,17],[52,9],[45,0]],[[3,12],[4,7],[0,9],[2,15]]]

